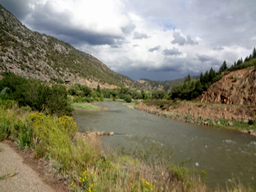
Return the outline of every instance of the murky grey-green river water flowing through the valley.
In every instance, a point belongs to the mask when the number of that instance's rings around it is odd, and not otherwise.
[[[225,186],[235,179],[256,189],[256,138],[248,134],[211,126],[176,121],[128,108],[122,103],[101,102],[109,111],[75,110],[80,132],[88,130],[114,132],[102,142],[112,147],[129,144],[127,138],[145,137],[147,142],[161,141],[173,148],[178,160],[191,159],[186,166],[195,166],[208,174],[210,187]]]

